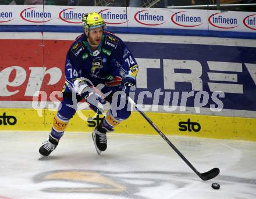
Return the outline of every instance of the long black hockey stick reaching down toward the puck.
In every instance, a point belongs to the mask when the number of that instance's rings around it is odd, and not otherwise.
[[[187,158],[184,157],[184,155],[182,153],[180,153],[179,150],[177,150],[177,148],[170,142],[170,140],[168,138],[166,138],[165,135],[163,135],[162,131],[160,131],[160,129],[158,129],[158,127],[150,120],[150,118],[147,117],[147,115],[145,115],[145,113],[143,113],[143,111],[141,111],[138,107],[137,104],[130,98],[128,97],[128,100],[131,104],[133,104],[136,108],[136,110],[145,118],[145,120],[147,120],[147,122],[155,129],[155,131],[158,132],[158,134],[165,140],[165,142],[167,142],[169,144],[170,147],[172,147],[173,150],[175,150],[175,152],[179,155],[179,157],[182,158],[182,160],[184,162],[186,162],[187,165],[189,165],[189,167],[202,179],[202,180],[209,180],[212,178],[215,178],[216,176],[219,175],[219,168],[213,168],[210,171],[207,171],[205,173],[200,173],[197,171],[197,169],[194,168],[194,166],[187,160]]]

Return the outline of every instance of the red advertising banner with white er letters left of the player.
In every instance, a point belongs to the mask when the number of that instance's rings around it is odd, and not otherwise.
[[[0,39],[0,100],[31,101],[40,91],[46,93],[47,101],[52,101],[51,93],[61,91],[65,82],[63,67],[71,43]]]

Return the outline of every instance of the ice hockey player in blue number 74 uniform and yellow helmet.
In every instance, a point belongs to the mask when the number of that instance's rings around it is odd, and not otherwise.
[[[52,122],[49,139],[39,149],[41,157],[56,149],[69,120],[76,113],[77,102],[83,99],[98,114],[103,112],[100,104],[106,101],[111,104],[111,109],[92,133],[98,154],[106,150],[106,133],[112,132],[131,113],[126,97],[119,97],[118,103],[114,104],[112,96],[117,91],[128,95],[130,88],[136,85],[136,60],[119,37],[105,31],[105,22],[98,13],[84,15],[82,26],[84,34],[76,38],[66,55],[63,100]],[[99,84],[104,85],[101,92],[94,89]],[[104,97],[102,93],[108,93],[108,96]],[[116,104],[122,100],[125,106],[119,110]]]

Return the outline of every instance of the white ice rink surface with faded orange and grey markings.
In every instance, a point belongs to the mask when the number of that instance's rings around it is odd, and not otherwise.
[[[0,199],[10,198],[256,198],[256,144],[168,136],[206,172],[202,181],[159,136],[108,135],[98,155],[90,133],[66,133],[52,154],[38,161],[48,133],[0,132]],[[221,184],[214,190],[211,184]]]

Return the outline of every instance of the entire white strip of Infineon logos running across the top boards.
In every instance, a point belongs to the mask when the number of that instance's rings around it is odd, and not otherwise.
[[[249,12],[97,6],[0,5],[0,25],[80,26],[93,11],[115,27],[256,31],[256,14]]]

